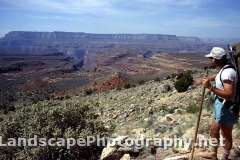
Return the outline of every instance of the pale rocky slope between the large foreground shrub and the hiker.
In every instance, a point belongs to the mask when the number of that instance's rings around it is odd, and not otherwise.
[[[195,74],[194,77],[201,75]],[[105,122],[106,127],[113,128],[112,137],[126,144],[129,138],[155,139],[164,137],[193,138],[197,123],[197,115],[201,100],[201,87],[190,87],[188,91],[178,93],[173,86],[173,79],[148,81],[145,84],[129,89],[115,89],[108,92],[88,96],[77,96],[67,101],[80,101],[94,107]],[[212,119],[213,98],[209,92],[204,100],[203,113],[198,137],[209,138],[209,127]],[[239,152],[240,126],[233,131],[233,159]],[[205,148],[197,148],[205,150]],[[220,148],[219,157],[222,149]],[[190,147],[181,148],[178,145],[164,146],[149,145],[137,148],[136,144],[129,146],[106,147],[101,159],[164,159],[166,157],[189,155]],[[182,157],[180,157],[182,158]],[[183,157],[184,159],[184,157]]]

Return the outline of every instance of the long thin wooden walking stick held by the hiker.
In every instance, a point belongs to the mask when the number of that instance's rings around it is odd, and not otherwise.
[[[207,69],[206,76],[208,76],[208,69]],[[206,88],[203,87],[203,89],[202,89],[202,98],[201,98],[201,103],[200,103],[200,110],[199,110],[199,114],[198,114],[197,126],[196,126],[196,129],[195,129],[194,142],[193,142],[193,146],[192,146],[190,160],[193,160],[193,156],[194,156],[195,144],[197,142],[197,133],[198,133],[199,124],[200,124],[201,115],[202,115],[202,108],[203,108],[203,101],[204,101],[204,97],[205,97],[205,91],[206,91]]]

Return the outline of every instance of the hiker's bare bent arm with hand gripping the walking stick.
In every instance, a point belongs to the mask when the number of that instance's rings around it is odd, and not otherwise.
[[[234,83],[230,80],[224,80],[224,88],[218,89],[211,85],[210,79],[203,78],[203,86],[208,88],[210,91],[212,91],[214,94],[224,98],[224,99],[231,99],[234,96]]]

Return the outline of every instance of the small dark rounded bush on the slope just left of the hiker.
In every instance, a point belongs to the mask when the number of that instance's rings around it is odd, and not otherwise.
[[[187,71],[180,73],[177,76],[177,81],[174,83],[174,87],[178,92],[185,92],[192,83],[193,77],[191,71]]]

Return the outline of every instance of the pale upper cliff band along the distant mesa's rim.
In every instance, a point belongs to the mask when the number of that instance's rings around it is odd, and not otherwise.
[[[54,40],[56,42],[69,42],[81,40],[106,40],[106,41],[147,41],[147,40],[176,40],[175,35],[161,35],[161,34],[92,34],[83,32],[24,32],[13,31],[6,34],[6,40]]]

